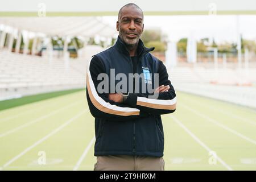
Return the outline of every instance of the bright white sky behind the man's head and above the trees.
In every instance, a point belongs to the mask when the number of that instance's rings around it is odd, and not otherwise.
[[[102,19],[115,27],[116,16]],[[144,16],[144,30],[150,28],[160,28],[175,42],[188,36],[196,40],[214,38],[217,43],[236,42],[238,32],[244,39],[256,41],[256,15]]]

